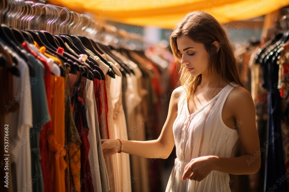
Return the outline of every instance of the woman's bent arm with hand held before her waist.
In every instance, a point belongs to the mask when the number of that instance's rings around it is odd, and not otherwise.
[[[238,133],[244,155],[234,158],[214,155],[194,158],[185,167],[183,180],[203,180],[212,170],[229,174],[253,174],[260,169],[260,144],[256,129],[255,105],[251,94],[242,87],[234,88],[225,102],[235,121],[242,122]],[[225,106],[224,105],[224,106]]]

